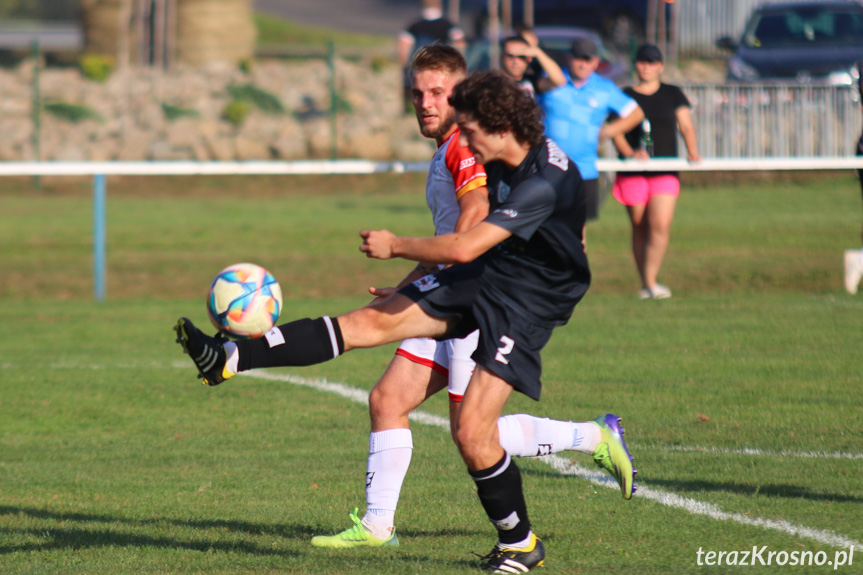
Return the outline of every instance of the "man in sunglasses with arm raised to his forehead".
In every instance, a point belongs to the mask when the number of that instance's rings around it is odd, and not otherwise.
[[[534,60],[540,71],[532,66]],[[501,71],[519,87],[534,96],[566,84],[566,76],[548,54],[539,47],[534,34],[510,36],[501,45]],[[545,75],[542,75],[545,72]]]

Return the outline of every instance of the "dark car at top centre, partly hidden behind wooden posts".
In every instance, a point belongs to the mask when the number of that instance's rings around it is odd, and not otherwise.
[[[602,33],[614,46],[625,48],[631,37],[644,36],[648,0],[533,0],[535,26],[575,26]],[[486,33],[488,0],[460,0],[460,10],[473,24],[477,38]],[[523,0],[512,0],[514,26],[524,22]]]

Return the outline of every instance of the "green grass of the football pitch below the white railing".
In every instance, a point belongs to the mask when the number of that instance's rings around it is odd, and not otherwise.
[[[88,181],[0,188],[0,572],[464,573],[493,542],[448,434],[414,425],[397,550],[313,549],[363,508],[365,406],[289,383],[196,383],[172,322],[203,321],[224,265],[280,280],[286,319],[346,311],[410,264],[358,251],[362,227],[431,229],[422,175],[110,178],[108,301],[92,301]],[[511,412],[625,418],[653,490],[751,519],[863,541],[863,299],[841,288],[859,238],[859,188],[827,182],[689,186],[662,281],[642,302],[628,224],[589,227],[595,281],[544,355],[543,398]],[[392,346],[274,370],[370,389]],[[444,397],[422,408],[444,416]],[[676,451],[758,448],[766,455]],[[589,458],[571,458],[589,465]],[[696,552],[838,549],[718,521],[520,460],[544,573],[823,573],[699,567]],[[859,572],[855,565],[838,573]]]

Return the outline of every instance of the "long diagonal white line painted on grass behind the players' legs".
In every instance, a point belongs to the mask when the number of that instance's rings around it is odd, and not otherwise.
[[[349,385],[345,385],[343,383],[334,383],[323,379],[311,380],[295,375],[277,374],[261,370],[251,371],[242,375],[245,377],[254,377],[271,381],[285,381],[288,383],[293,383],[295,385],[301,385],[303,387],[310,387],[313,389],[334,393],[352,401],[356,401],[357,403],[368,403],[368,392],[357,389],[355,387],[351,387]],[[410,418],[411,420],[418,423],[424,423],[426,425],[431,425],[434,427],[439,427],[441,429],[449,430],[449,420],[445,417],[440,417],[438,415],[424,413],[417,410],[411,413]],[[588,481],[591,481],[592,483],[595,483],[597,485],[619,490],[617,482],[615,482],[614,479],[612,479],[608,475],[600,471],[587,469],[586,467],[574,463],[569,459],[566,459],[565,457],[559,457],[557,455],[547,455],[539,459],[541,459],[542,461],[550,465],[555,471],[563,475],[572,475],[581,479],[587,479]],[[651,487],[645,486],[643,483],[638,484],[638,494],[636,495],[636,497],[651,499],[653,501],[661,503],[662,505],[682,509],[683,511],[686,511],[687,513],[691,513],[693,515],[704,515],[706,517],[710,517],[711,519],[716,519],[717,521],[734,521],[743,525],[751,525],[754,527],[761,527],[763,529],[781,531],[795,537],[812,539],[819,543],[823,543],[825,545],[833,545],[835,547],[854,546],[857,549],[863,548],[863,544],[859,543],[858,541],[843,537],[842,535],[833,533],[832,531],[813,529],[810,527],[804,527],[802,525],[794,525],[793,523],[789,523],[788,521],[783,520],[763,519],[761,517],[747,517],[746,515],[743,515],[741,513],[729,513],[727,511],[723,511],[721,508],[719,508],[719,506],[712,503],[705,503],[703,501],[697,501],[695,499],[690,499],[688,497],[683,497],[674,493],[669,493],[667,491],[653,489]]]

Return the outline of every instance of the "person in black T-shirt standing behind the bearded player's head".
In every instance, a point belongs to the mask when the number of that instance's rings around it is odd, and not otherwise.
[[[422,17],[398,35],[405,111],[411,110],[411,60],[417,50],[429,44],[448,44],[462,53],[466,46],[462,29],[444,17],[441,0],[422,0]]]

